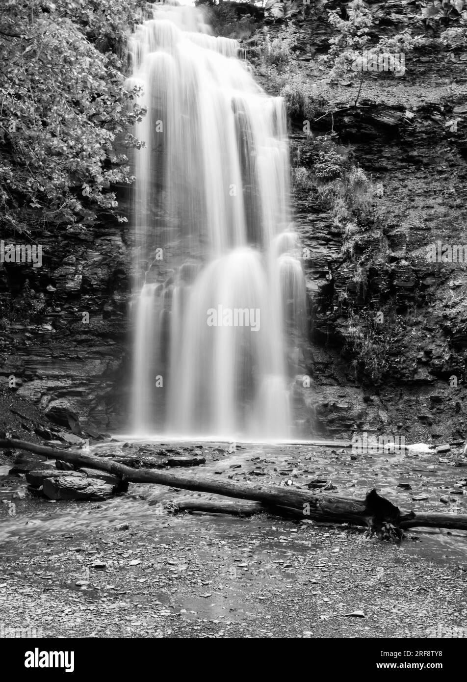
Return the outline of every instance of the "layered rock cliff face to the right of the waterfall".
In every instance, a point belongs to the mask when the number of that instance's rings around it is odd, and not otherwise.
[[[297,229],[311,252],[301,371],[313,377],[309,388],[297,380],[295,396],[317,432],[467,437],[467,263],[427,261],[428,245],[467,244],[466,102],[453,95],[406,113],[367,101],[334,115],[340,140],[381,183],[374,222],[351,235],[353,253],[316,196],[295,190]],[[449,132],[445,122],[462,112],[464,132]],[[311,141],[298,125],[292,148],[306,166]]]

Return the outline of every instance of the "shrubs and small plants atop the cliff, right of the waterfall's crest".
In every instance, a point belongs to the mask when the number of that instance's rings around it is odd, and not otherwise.
[[[289,4],[286,0],[275,0],[271,5],[284,8],[284,12],[277,10],[280,17],[277,23],[281,25],[278,38],[284,37],[284,16]],[[393,80],[404,76],[404,63],[401,65],[395,55],[406,56],[411,50],[427,47],[433,53],[467,46],[467,0],[434,0],[422,5],[404,1],[401,6],[394,2],[387,6],[386,3],[351,0],[341,4],[340,9],[333,5],[332,10],[327,3],[318,3],[319,12],[327,13],[332,32],[329,50],[323,55],[321,40],[314,41],[316,4],[311,1],[307,5],[312,8],[307,20],[298,15],[292,17],[297,34],[295,45],[289,48],[286,41],[283,48],[279,45],[276,48],[275,44],[269,63],[262,57],[256,65],[258,74],[267,78],[269,89],[284,97],[288,113],[295,119],[303,116],[316,121],[333,110],[357,106],[363,97],[388,106],[404,104],[410,109],[417,106],[420,96],[426,92],[425,87],[411,83],[411,87],[406,88],[396,83],[383,90],[376,83],[379,78]],[[400,12],[404,18],[403,31],[400,31]],[[427,19],[425,14],[430,17]],[[275,31],[276,27],[268,27],[267,34],[275,35]],[[265,40],[268,39],[263,38],[263,42]],[[273,38],[269,41],[272,43]],[[261,42],[258,51],[264,55]],[[361,61],[357,61],[363,58],[364,51],[365,58],[373,62],[372,70],[365,71]],[[307,55],[306,61],[297,58],[302,55]],[[378,63],[380,55],[393,55],[393,63],[386,57],[387,63],[380,60],[381,68],[376,70],[375,62]],[[441,102],[452,95],[455,95],[454,84],[430,87],[433,101]]]

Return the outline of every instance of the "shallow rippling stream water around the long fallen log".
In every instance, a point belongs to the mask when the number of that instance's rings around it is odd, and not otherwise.
[[[109,447],[118,446],[105,443],[91,451],[98,454]],[[402,509],[466,513],[464,469],[454,467],[449,458],[440,457],[433,451],[404,456],[361,455],[352,461],[348,451],[303,444],[244,445],[230,454],[225,443],[203,444],[203,447],[207,456],[203,473],[230,475],[235,479],[244,477],[245,471],[250,476],[260,472],[262,483],[282,481],[282,484],[288,484],[290,481],[293,486],[309,479],[326,479],[332,481],[335,494],[361,498],[367,490],[376,487],[379,494],[387,496]],[[215,460],[212,459],[213,451]],[[50,464],[55,466],[55,462],[50,461]],[[100,531],[125,522],[138,524],[140,528],[157,528],[160,537],[177,533],[181,528],[186,532],[186,516],[160,514],[155,505],[201,496],[197,492],[175,491],[165,486],[131,484],[127,494],[104,502],[55,502],[31,496],[24,476],[8,475],[10,468],[10,464],[0,465],[0,543],[18,537],[37,539],[53,534]],[[192,470],[194,468],[187,471]],[[401,485],[404,488],[399,487]],[[204,494],[203,497],[215,498]],[[447,503],[440,503],[440,498]],[[202,529],[206,524],[216,524],[229,533],[249,522],[223,515],[192,514],[189,518],[192,531]],[[273,525],[274,520],[265,523]],[[400,547],[403,552],[438,563],[455,562],[467,566],[467,533],[464,531],[412,529]]]

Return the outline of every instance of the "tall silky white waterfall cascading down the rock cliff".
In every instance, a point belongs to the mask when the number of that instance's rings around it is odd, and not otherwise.
[[[134,436],[286,439],[290,329],[305,280],[290,226],[281,98],[200,10],[153,5],[131,39]]]

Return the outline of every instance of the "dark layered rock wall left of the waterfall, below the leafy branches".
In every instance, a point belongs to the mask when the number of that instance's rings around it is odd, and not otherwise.
[[[8,240],[5,243],[18,238]],[[42,267],[0,269],[0,376],[41,409],[103,430],[125,421],[131,257],[121,226],[45,233]]]

